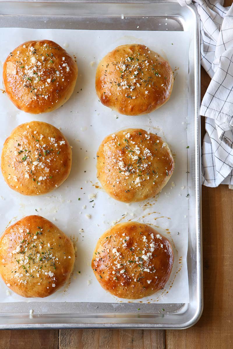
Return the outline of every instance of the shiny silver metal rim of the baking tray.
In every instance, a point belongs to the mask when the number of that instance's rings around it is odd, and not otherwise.
[[[5,2],[7,1],[0,1]],[[8,1],[13,2],[13,1]],[[26,1],[18,0],[14,2],[19,2],[26,4]],[[37,1],[36,4],[39,2],[45,2],[45,0]],[[58,4],[62,1],[58,0]],[[67,3],[85,3],[86,1],[64,1]],[[92,1],[87,1],[92,2]],[[104,3],[105,1],[97,0],[93,1],[96,4],[97,3]],[[170,0],[164,1],[122,1],[119,0],[118,4],[120,3],[134,3],[134,4],[153,4],[156,6],[159,6],[161,4],[166,3],[169,5],[169,3],[172,5],[176,3],[176,0]],[[34,2],[35,3],[35,2]],[[114,3],[114,2],[111,2]],[[195,53],[195,59],[194,59],[194,66],[192,69],[194,70],[194,108],[195,108],[195,196],[196,196],[196,303],[194,306],[194,311],[192,313],[192,316],[184,322],[182,322],[182,314],[179,314],[179,321],[178,319],[175,319],[175,315],[177,317],[177,313],[99,313],[99,314],[57,314],[57,313],[46,313],[46,314],[34,314],[29,316],[28,313],[21,312],[21,314],[13,314],[13,313],[7,313],[2,312],[1,320],[0,320],[0,329],[42,329],[42,328],[143,328],[143,329],[153,329],[153,328],[160,328],[160,329],[168,329],[168,328],[176,328],[176,329],[182,329],[182,328],[188,328],[193,326],[201,317],[202,311],[203,311],[203,274],[202,274],[202,227],[201,227],[201,123],[200,123],[200,116],[199,116],[199,104],[200,104],[200,50],[199,50],[199,17],[196,10],[196,7],[194,5],[189,5],[189,10],[194,17],[195,20],[195,30],[194,30],[194,36],[195,36],[195,42],[194,42],[194,53]],[[179,8],[179,7],[178,7]],[[164,14],[166,16],[166,14]],[[190,67],[189,67],[190,69]],[[190,286],[191,287],[191,286]],[[19,304],[19,303],[18,303]],[[22,302],[22,308],[23,304]],[[30,303],[28,303],[30,304]],[[72,303],[70,303],[72,304]],[[188,310],[191,303],[188,303],[186,306],[186,311]],[[68,304],[67,304],[68,305]],[[185,312],[184,312],[185,313]],[[107,315],[107,316],[106,316]],[[118,317],[120,315],[120,317]],[[122,316],[123,315],[123,316]],[[174,317],[174,321],[163,321],[163,322],[150,322],[148,321],[148,318],[155,319],[161,318],[171,320]],[[43,317],[43,318],[42,318]],[[12,321],[13,318],[13,321]],[[92,319],[95,319],[94,322]],[[22,321],[23,319],[23,321]],[[37,321],[39,319],[40,321]],[[64,319],[64,320],[63,320]],[[70,321],[68,321],[69,319]],[[102,321],[101,321],[102,319]],[[130,321],[133,319],[133,321]],[[146,320],[147,319],[147,320]],[[18,321],[17,321],[18,320]],[[71,321],[73,320],[73,321]],[[76,320],[76,321],[75,321]],[[90,320],[90,321],[89,321]],[[105,320],[105,322],[104,322]],[[107,320],[107,321],[106,321]],[[111,321],[110,321],[111,320]],[[117,321],[118,320],[118,321]],[[146,322],[145,322],[146,320]],[[181,321],[180,321],[181,320]]]

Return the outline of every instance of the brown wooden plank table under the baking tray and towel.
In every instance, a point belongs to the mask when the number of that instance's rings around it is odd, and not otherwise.
[[[225,6],[231,3],[232,0],[227,0]],[[209,82],[210,78],[202,68],[202,97]],[[227,185],[202,187],[202,227],[204,311],[193,327],[165,331],[0,331],[0,349],[232,349],[233,191]]]

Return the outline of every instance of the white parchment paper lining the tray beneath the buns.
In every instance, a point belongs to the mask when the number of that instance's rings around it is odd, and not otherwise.
[[[25,215],[36,214],[37,209],[39,215],[48,218],[71,236],[77,247],[74,272],[63,289],[43,299],[25,299],[8,290],[0,281],[1,302],[128,302],[111,296],[100,287],[90,262],[97,239],[105,230],[117,222],[133,220],[153,224],[155,229],[172,242],[175,252],[173,272],[165,289],[149,298],[140,299],[140,302],[188,303],[186,196],[192,194],[190,190],[188,192],[186,173],[189,161],[186,148],[188,33],[4,28],[1,29],[0,38],[0,73],[7,54],[22,42],[31,39],[54,40],[77,57],[79,67],[77,86],[72,97],[54,112],[38,116],[26,114],[17,110],[6,94],[0,94],[1,147],[13,128],[32,120],[60,127],[73,147],[69,178],[48,195],[24,197],[10,190],[1,176],[0,231],[4,231],[8,223],[13,222],[13,218],[18,220]],[[175,73],[170,100],[157,111],[145,116],[117,114],[104,107],[95,94],[95,70],[99,60],[116,46],[129,43],[145,44],[167,57]],[[103,138],[128,127],[142,127],[161,135],[172,149],[175,160],[173,176],[162,192],[154,199],[130,205],[117,202],[103,192],[97,183],[95,169],[96,150]],[[85,205],[86,208],[83,208]]]

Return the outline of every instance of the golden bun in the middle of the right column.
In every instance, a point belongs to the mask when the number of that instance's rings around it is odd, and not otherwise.
[[[141,128],[110,134],[97,151],[97,178],[104,190],[119,201],[151,198],[166,185],[173,170],[167,143]]]

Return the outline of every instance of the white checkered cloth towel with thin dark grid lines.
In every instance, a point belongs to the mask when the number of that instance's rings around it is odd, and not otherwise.
[[[188,5],[191,0],[178,0]],[[233,5],[224,0],[193,1],[201,18],[201,64],[212,78],[201,105],[206,134],[202,183],[233,185]]]

